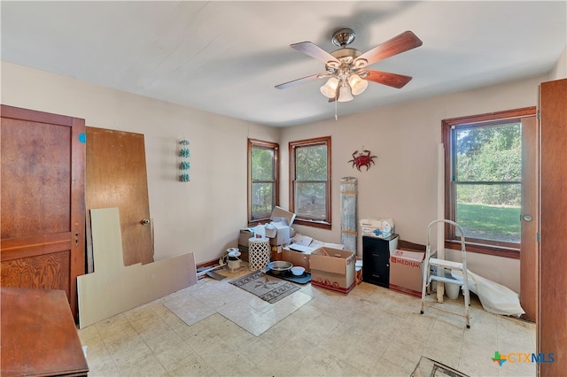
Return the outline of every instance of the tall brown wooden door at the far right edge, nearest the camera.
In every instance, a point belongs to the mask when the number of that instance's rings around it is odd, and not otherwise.
[[[540,85],[540,375],[567,371],[567,79]],[[547,361],[551,361],[546,358]]]

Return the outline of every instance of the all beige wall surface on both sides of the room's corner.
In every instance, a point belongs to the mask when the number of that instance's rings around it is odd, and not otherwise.
[[[556,70],[561,72],[563,65]],[[83,118],[90,127],[144,134],[155,257],[192,251],[202,263],[236,246],[238,229],[245,227],[248,137],[280,142],[281,204],[288,208],[287,143],[332,136],[333,228],[296,227],[299,233],[340,241],[339,181],[354,176],[359,179],[359,219],[392,217],[401,238],[424,244],[427,224],[437,217],[441,119],[535,106],[538,85],[548,80],[537,77],[282,129],[5,62],[1,96],[3,104]],[[348,104],[338,104],[339,114],[342,106]],[[329,111],[334,112],[332,105]],[[190,183],[176,181],[180,136],[190,140]],[[362,148],[377,155],[368,172],[358,172],[347,162]],[[470,253],[469,261],[471,271],[519,291],[517,260]]]

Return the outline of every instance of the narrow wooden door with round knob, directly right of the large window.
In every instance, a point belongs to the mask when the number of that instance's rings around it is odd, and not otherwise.
[[[525,317],[538,319],[540,128],[535,117],[522,119],[522,212],[520,214],[520,304]]]

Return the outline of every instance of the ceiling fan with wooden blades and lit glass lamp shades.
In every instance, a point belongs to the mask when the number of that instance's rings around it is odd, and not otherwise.
[[[328,97],[329,102],[347,102],[353,100],[353,95],[361,94],[368,87],[368,81],[392,88],[402,88],[412,79],[411,76],[402,74],[374,71],[368,69],[368,66],[421,46],[423,42],[414,33],[406,31],[396,35],[363,54],[359,50],[346,47],[354,41],[355,36],[353,29],[338,29],[333,33],[331,42],[339,49],[330,53],[313,42],[291,44],[291,48],[324,63],[325,72],[284,82],[276,85],[276,88],[283,89],[315,79],[329,78],[321,87],[322,95]]]

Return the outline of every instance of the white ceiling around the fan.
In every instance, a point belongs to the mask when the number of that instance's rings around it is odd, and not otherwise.
[[[331,119],[324,72],[289,47],[370,50],[411,30],[423,46],[370,65],[413,76],[401,89],[370,82],[338,114],[549,73],[567,43],[567,1],[2,1],[2,59],[105,87],[255,123]]]

